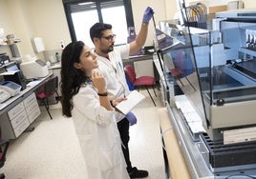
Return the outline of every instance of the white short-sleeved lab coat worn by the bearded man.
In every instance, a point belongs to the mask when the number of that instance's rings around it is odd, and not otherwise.
[[[130,93],[128,88],[125,73],[123,70],[122,59],[129,58],[130,45],[118,46],[115,50],[109,52],[109,59],[99,55],[96,55],[98,63],[97,70],[100,71],[105,77],[106,88],[109,95],[113,98],[127,96]],[[116,119],[119,122],[124,118],[124,115],[120,112],[116,112]]]

